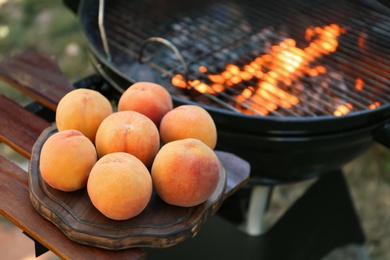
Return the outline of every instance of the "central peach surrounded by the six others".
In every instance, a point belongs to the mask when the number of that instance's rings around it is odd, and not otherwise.
[[[95,145],[99,157],[126,152],[150,166],[160,148],[160,136],[148,117],[136,111],[119,111],[100,124]]]

